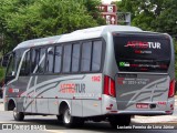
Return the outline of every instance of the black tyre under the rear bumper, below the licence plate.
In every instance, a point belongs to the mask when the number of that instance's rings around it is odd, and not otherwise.
[[[131,123],[131,115],[112,115],[108,117],[112,127],[117,129],[117,126],[128,126]]]

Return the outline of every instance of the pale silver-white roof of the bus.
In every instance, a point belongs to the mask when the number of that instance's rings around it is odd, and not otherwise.
[[[129,27],[129,25],[102,25],[102,27],[88,28],[83,30],[76,30],[67,34],[24,41],[18,44],[14,48],[14,50],[20,48],[31,48],[34,45],[45,45],[50,43],[60,43],[60,42],[69,42],[69,41],[84,40],[84,39],[91,39],[91,38],[100,38],[101,35],[106,34],[107,32],[113,32],[113,31],[140,32],[142,30],[139,28]]]

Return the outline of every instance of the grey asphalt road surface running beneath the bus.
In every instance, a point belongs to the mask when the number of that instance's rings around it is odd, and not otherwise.
[[[176,123],[137,123],[136,121],[132,121],[129,127],[135,129],[123,129],[123,130],[113,130],[108,122],[86,122],[83,127],[76,127],[76,129],[66,129],[63,124],[60,124],[56,121],[55,116],[25,116],[23,122],[15,122],[13,121],[12,112],[0,112],[0,123],[2,124],[20,124],[20,125],[44,125],[48,130],[40,131],[42,133],[108,133],[108,132],[118,132],[118,133],[125,133],[125,132],[142,132],[142,133],[157,133],[157,132],[173,132],[175,133],[176,130],[169,130],[170,127],[174,129],[174,126],[177,127]],[[147,130],[148,126],[153,126],[154,130]],[[168,127],[168,130],[165,130],[165,126]],[[144,129],[145,127],[145,129]],[[18,130],[19,132],[19,130]],[[23,132],[20,130],[20,132]],[[37,132],[37,131],[35,131]]]

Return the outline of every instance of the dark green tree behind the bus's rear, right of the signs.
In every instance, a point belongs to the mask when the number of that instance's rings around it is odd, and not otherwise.
[[[122,0],[118,11],[132,13],[132,24],[157,32],[177,34],[176,0]]]

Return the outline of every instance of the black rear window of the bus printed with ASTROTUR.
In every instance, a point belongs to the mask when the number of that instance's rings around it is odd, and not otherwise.
[[[113,40],[119,71],[167,72],[170,42],[165,35],[114,34]]]

